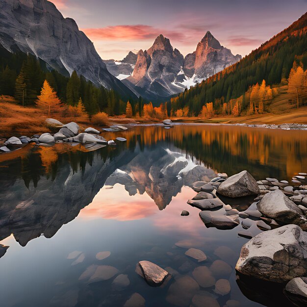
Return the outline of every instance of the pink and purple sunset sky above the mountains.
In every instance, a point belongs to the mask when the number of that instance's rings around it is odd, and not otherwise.
[[[123,59],[163,34],[186,55],[209,30],[246,55],[307,11],[307,0],[53,0],[76,20],[102,59]]]

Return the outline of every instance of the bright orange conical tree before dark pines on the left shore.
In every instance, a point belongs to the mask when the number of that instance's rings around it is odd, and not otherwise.
[[[62,105],[62,102],[59,100],[47,80],[44,81],[41,94],[37,97],[36,105],[42,108],[45,112],[48,111],[48,116],[50,115],[51,110],[58,110]]]

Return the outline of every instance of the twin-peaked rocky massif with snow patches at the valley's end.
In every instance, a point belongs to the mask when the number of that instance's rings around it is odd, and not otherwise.
[[[138,52],[134,70],[123,82],[136,95],[158,101],[183,92],[240,59],[240,55],[233,55],[221,46],[210,32],[206,33],[196,51],[185,58],[161,34],[150,49]]]

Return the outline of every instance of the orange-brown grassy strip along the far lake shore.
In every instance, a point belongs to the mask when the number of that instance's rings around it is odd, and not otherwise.
[[[61,113],[51,114],[47,116],[36,107],[23,107],[9,98],[0,99],[0,138],[9,137],[12,134],[34,134],[51,131],[51,128],[46,125],[46,118],[52,117],[63,123],[77,122],[81,127],[95,126],[91,123],[88,117],[68,117]],[[284,110],[281,113],[265,113],[250,116],[221,116],[211,119],[203,119],[200,117],[181,117],[172,118],[175,122],[185,123],[215,123],[215,124],[283,124],[283,123],[297,123],[307,124],[307,106],[299,109],[291,108]],[[154,123],[160,122],[157,119],[149,118],[126,118],[125,116],[109,117],[105,125],[112,125],[114,123]]]

